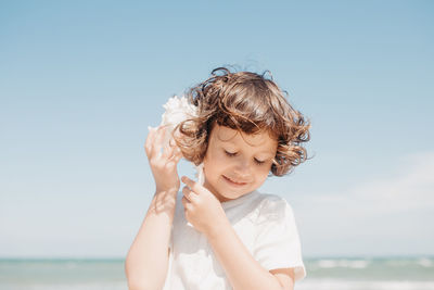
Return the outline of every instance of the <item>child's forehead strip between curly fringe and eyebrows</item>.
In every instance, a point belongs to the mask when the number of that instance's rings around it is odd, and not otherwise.
[[[271,138],[268,131],[261,130],[256,134],[246,134],[226,126],[216,124],[213,134],[221,142],[233,144],[248,144],[250,147],[273,148],[277,141]]]

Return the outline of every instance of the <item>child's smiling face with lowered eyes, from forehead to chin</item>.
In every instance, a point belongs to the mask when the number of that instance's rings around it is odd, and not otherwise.
[[[204,157],[204,186],[222,202],[259,188],[276,156],[278,142],[268,133],[239,133],[214,125]]]

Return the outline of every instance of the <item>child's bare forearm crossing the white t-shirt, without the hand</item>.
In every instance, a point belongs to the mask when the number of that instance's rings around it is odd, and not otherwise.
[[[254,260],[229,220],[207,237],[234,290],[283,289],[279,280]]]

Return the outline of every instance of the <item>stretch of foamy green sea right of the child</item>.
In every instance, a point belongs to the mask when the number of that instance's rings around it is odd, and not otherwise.
[[[297,290],[434,290],[434,257],[311,259]]]

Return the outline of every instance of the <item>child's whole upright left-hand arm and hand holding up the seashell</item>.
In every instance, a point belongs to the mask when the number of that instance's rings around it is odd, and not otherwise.
[[[161,153],[164,130],[153,129],[146,138],[145,151],[156,189],[125,262],[130,290],[159,290],[167,275],[169,239],[179,190],[177,164],[181,153],[174,146]]]

